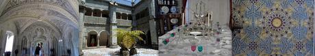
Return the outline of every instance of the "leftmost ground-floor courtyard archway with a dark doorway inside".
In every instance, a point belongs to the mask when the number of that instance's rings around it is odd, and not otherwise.
[[[88,32],[88,47],[97,46],[97,32],[91,31]]]

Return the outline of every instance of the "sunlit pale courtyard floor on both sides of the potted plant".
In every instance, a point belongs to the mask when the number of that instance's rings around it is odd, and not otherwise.
[[[95,48],[95,49],[83,49],[84,56],[116,56],[120,47],[116,49],[110,49],[107,47]],[[157,56],[158,51],[154,49],[137,49],[138,54],[134,56]]]

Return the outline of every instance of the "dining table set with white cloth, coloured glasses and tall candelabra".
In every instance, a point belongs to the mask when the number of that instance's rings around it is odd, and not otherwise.
[[[200,1],[188,24],[184,24],[160,36],[160,53],[176,55],[220,55],[231,51],[231,30],[227,25],[216,22],[212,26],[212,11],[205,9]],[[165,38],[165,36],[171,38]]]

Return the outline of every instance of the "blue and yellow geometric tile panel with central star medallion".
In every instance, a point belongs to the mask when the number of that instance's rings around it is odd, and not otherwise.
[[[314,0],[231,0],[236,56],[314,56]]]

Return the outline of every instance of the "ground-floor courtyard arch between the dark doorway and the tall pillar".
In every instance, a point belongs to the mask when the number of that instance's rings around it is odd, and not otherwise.
[[[109,42],[109,33],[105,30],[101,31],[101,33],[99,33],[99,45],[100,46],[108,46],[108,42]]]

